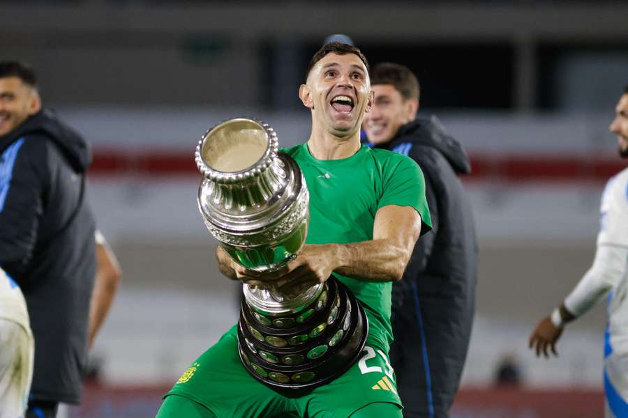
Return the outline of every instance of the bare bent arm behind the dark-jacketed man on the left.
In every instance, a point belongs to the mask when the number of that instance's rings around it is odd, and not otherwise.
[[[109,312],[118,290],[122,271],[112,249],[100,231],[96,231],[96,279],[89,306],[89,347]]]

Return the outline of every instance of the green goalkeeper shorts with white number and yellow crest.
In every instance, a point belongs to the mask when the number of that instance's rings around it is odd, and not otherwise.
[[[392,403],[401,410],[388,355],[370,338],[359,360],[342,376],[305,396],[287,398],[262,385],[244,369],[236,333],[235,326],[227,331],[186,370],[164,398],[188,398],[219,418],[270,418],[286,413],[284,416],[346,418],[371,403]],[[160,414],[159,418],[170,416]]]

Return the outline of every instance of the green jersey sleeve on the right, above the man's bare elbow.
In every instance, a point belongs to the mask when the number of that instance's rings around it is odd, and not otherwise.
[[[410,206],[417,210],[421,216],[421,235],[432,229],[423,171],[405,155],[394,155],[384,167],[384,191],[377,209],[388,205]]]

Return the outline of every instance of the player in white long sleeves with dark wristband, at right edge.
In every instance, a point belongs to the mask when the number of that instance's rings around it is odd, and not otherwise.
[[[628,158],[628,85],[609,127],[617,135],[619,154]],[[613,176],[604,189],[600,231],[593,264],[560,307],[543,318],[530,335],[537,356],[558,356],[556,342],[563,327],[605,297],[608,327],[604,338],[606,418],[628,417],[628,168]]]

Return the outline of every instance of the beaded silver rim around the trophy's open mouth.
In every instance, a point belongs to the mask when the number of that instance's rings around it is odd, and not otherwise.
[[[220,170],[212,168],[204,160],[203,155],[202,155],[202,148],[203,148],[205,140],[209,137],[209,135],[212,132],[215,132],[216,130],[222,128],[224,125],[232,124],[232,123],[240,123],[240,122],[254,123],[255,125],[258,125],[260,128],[262,128],[267,138],[267,147],[266,147],[266,150],[264,150],[264,154],[262,154],[262,157],[260,157],[260,159],[257,160],[255,164],[252,164],[251,166],[241,169],[239,171],[227,172],[227,171],[220,171]],[[214,180],[216,183],[235,183],[242,180],[246,180],[248,178],[253,178],[255,176],[260,176],[260,174],[263,171],[267,170],[271,166],[273,160],[275,159],[275,157],[277,157],[278,151],[279,151],[279,141],[277,139],[277,134],[273,130],[273,128],[270,127],[268,123],[264,123],[258,118],[253,118],[249,116],[239,116],[237,118],[225,119],[223,121],[216,123],[216,125],[210,127],[202,135],[201,139],[198,141],[198,144],[196,146],[196,151],[194,154],[195,155],[194,160],[196,162],[198,169],[200,170],[200,172],[205,178]]]

